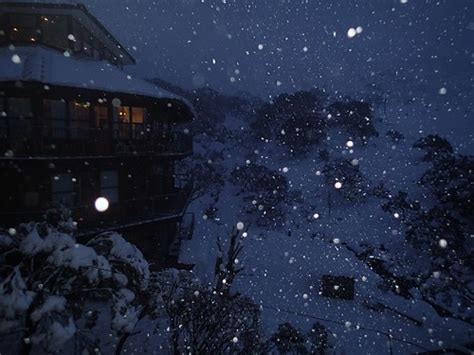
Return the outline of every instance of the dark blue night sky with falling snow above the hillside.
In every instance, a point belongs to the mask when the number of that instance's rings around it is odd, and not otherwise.
[[[129,70],[188,88],[472,90],[472,0],[82,2],[135,56]]]

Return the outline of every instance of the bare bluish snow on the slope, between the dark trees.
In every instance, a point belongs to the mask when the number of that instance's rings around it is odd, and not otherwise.
[[[415,183],[427,166],[416,163],[420,153],[412,150],[411,145],[429,132],[418,130],[419,122],[413,117],[418,117],[421,122],[426,113],[424,106],[412,103],[412,106],[403,106],[403,109],[410,111],[413,116],[408,117],[407,114],[400,118],[403,110],[397,105],[394,102],[393,106],[387,108],[385,115],[392,117],[386,117],[386,121],[398,122],[395,128],[405,135],[405,140],[392,143],[385,137],[385,132],[394,127],[378,122],[380,136],[371,140],[366,147],[355,143],[351,151],[345,145],[350,137],[337,132],[331,132],[331,141],[326,146],[331,149],[332,157],[357,159],[371,187],[383,181],[391,192],[409,190],[415,194]],[[376,117],[381,115],[381,112],[377,112]],[[407,124],[407,120],[412,121]],[[233,132],[234,137],[248,134],[247,125],[238,117],[227,117],[225,126]],[[229,144],[210,143],[197,149],[201,153],[206,150],[208,154],[210,151],[222,153],[224,160],[214,163],[221,164],[229,174],[235,166],[245,164],[249,153],[254,151],[248,140],[244,138],[244,142],[247,144],[235,143],[235,139],[232,141],[229,138]],[[462,148],[464,142],[461,138],[455,143]],[[316,150],[303,160],[295,160],[285,157],[284,150],[269,144],[267,149],[259,151],[257,155],[259,158],[256,162],[259,164],[283,171],[292,189],[301,190],[305,203],[311,205],[313,210],[309,214],[300,214],[300,209],[308,206],[288,206],[286,228],[279,232],[249,226],[243,257],[239,260],[246,269],[234,287],[264,306],[263,321],[268,332],[284,321],[291,321],[306,331],[315,322],[310,316],[324,318],[330,320],[322,323],[333,334],[331,342],[338,353],[370,354],[388,352],[390,346],[395,353],[421,349],[396,340],[390,345],[387,336],[357,330],[358,326],[382,332],[391,331],[395,339],[432,349],[459,345],[456,340],[469,338],[465,324],[440,318],[426,303],[381,291],[377,287],[380,276],[343,245],[347,243],[355,247],[364,241],[383,243],[391,251],[404,253],[407,260],[416,260],[416,255],[407,255],[403,236],[397,233],[399,222],[381,210],[380,199],[371,197],[361,203],[347,203],[332,196],[333,208],[329,215],[327,189],[320,186],[324,178],[316,175],[323,166]],[[251,161],[250,164],[256,162]],[[414,196],[421,197],[422,191],[417,191]],[[242,202],[239,196],[235,196],[235,188],[231,183],[226,183],[214,206],[217,208],[214,219],[203,213],[210,203],[210,197],[204,196],[190,206],[190,211],[197,217],[196,229],[193,239],[183,244],[181,254],[181,261],[194,263],[196,274],[208,282],[212,282],[213,278],[217,236],[228,235],[237,222],[246,223],[246,216],[240,212]],[[314,213],[319,215],[318,219],[311,218]],[[335,300],[321,296],[319,285],[324,274],[354,277],[355,300]],[[368,310],[363,306],[364,301],[380,302],[395,311]],[[265,308],[268,306],[289,310],[293,314]],[[396,311],[423,321],[423,325],[417,325]],[[333,324],[331,321],[342,324]]]

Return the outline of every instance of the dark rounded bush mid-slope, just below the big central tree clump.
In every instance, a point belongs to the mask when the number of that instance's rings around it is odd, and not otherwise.
[[[244,194],[247,213],[258,225],[278,227],[284,222],[285,203],[289,198],[285,176],[262,165],[235,168],[230,181]]]

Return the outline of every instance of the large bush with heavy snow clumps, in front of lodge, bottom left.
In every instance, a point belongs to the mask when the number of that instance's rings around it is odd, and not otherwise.
[[[60,221],[56,221],[60,222]],[[110,328],[130,332],[137,320],[136,295],[146,290],[148,263],[116,233],[85,244],[58,223],[28,223],[0,234],[0,332],[22,353],[57,352],[94,313],[88,302],[110,306]],[[83,342],[100,348],[99,339]],[[93,349],[84,349],[92,351]]]

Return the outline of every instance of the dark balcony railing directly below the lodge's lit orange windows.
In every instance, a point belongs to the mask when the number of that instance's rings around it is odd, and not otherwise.
[[[193,150],[192,136],[184,131],[153,132],[145,125],[35,127],[31,120],[0,120],[0,150],[5,156],[187,155]]]

